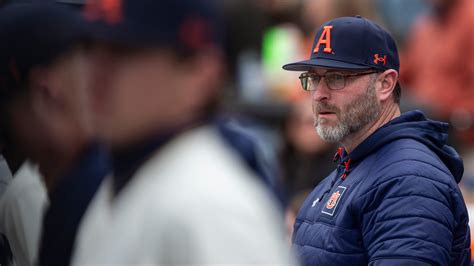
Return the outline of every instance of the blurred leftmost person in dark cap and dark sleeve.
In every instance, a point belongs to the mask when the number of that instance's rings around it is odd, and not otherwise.
[[[38,165],[50,200],[41,240],[46,195],[10,206],[17,212],[28,208],[9,231],[18,232],[13,243],[23,243],[28,255],[12,245],[19,265],[34,264],[38,241],[40,265],[70,263],[79,221],[110,169],[88,113],[88,61],[78,45],[86,32],[78,13],[55,4],[19,3],[0,10],[2,129],[9,147]],[[36,189],[44,191],[42,185],[37,182]],[[31,197],[32,189],[23,186],[13,196]]]

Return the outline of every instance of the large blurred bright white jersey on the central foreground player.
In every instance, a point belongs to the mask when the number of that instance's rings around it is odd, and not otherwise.
[[[106,179],[73,265],[293,265],[278,203],[212,127],[178,136],[114,198]]]

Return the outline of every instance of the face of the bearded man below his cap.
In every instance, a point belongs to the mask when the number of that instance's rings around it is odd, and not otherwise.
[[[376,97],[373,75],[347,77],[341,90],[331,90],[323,78],[311,91],[314,126],[323,140],[340,142],[378,118],[381,105]]]

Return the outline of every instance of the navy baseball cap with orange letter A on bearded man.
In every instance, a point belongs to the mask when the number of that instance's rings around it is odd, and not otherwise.
[[[340,17],[319,28],[309,60],[286,64],[283,69],[311,68],[348,70],[400,69],[392,36],[373,21],[361,16]]]

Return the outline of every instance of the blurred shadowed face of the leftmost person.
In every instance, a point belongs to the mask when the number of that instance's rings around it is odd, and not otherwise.
[[[75,49],[30,72],[27,93],[6,106],[5,130],[15,148],[39,161],[45,152],[66,151],[89,137],[87,66],[83,50]]]

